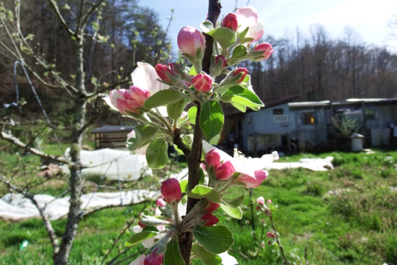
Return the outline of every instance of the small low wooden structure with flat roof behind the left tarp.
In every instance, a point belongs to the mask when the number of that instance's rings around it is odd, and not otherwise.
[[[93,129],[91,134],[95,135],[95,149],[126,147],[127,135],[133,129],[133,126],[110,125]]]

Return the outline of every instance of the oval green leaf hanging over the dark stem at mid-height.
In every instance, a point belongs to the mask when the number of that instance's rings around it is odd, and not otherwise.
[[[206,137],[206,140],[211,140],[222,131],[224,122],[224,115],[222,107],[216,101],[210,100],[202,104],[200,112],[200,127]]]

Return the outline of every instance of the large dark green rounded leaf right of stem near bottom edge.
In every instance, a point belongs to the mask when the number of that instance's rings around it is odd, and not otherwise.
[[[214,254],[224,253],[234,242],[233,235],[226,226],[196,226],[192,232],[200,245]]]

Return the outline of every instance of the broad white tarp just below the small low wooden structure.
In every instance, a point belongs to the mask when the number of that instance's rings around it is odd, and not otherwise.
[[[69,156],[70,148],[66,149],[65,155]],[[83,174],[98,174],[106,173],[107,179],[120,179],[123,181],[134,181],[139,179],[139,176],[151,176],[152,170],[148,168],[146,157],[140,154],[131,154],[128,150],[117,149],[99,149],[94,151],[81,150],[81,163],[87,168],[81,172]],[[110,165],[110,167],[109,167]],[[62,170],[69,174],[70,171],[67,165],[62,167]]]

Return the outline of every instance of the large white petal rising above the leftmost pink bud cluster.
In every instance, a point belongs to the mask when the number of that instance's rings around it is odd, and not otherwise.
[[[134,86],[146,89],[152,95],[160,90],[168,89],[168,85],[162,84],[162,82],[157,80],[159,75],[157,75],[155,68],[151,64],[146,64],[145,62],[138,62],[137,64],[138,67],[131,73]]]

